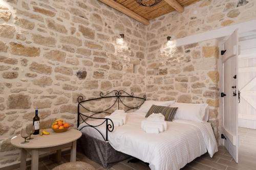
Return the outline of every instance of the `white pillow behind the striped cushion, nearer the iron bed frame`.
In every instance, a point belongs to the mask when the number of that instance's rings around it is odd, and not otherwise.
[[[135,112],[144,112],[147,113],[148,110],[150,110],[152,105],[157,105],[157,106],[169,106],[170,104],[175,103],[175,101],[145,101],[138,110]]]

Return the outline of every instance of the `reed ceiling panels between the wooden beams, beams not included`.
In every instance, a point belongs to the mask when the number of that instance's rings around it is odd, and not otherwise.
[[[159,4],[154,7],[143,7],[140,6],[135,0],[114,0],[115,2],[123,5],[124,7],[130,9],[131,11],[137,13],[147,20],[157,18],[159,16],[165,15],[169,12],[175,11],[175,9],[162,0]],[[182,7],[194,4],[201,0],[176,0]]]

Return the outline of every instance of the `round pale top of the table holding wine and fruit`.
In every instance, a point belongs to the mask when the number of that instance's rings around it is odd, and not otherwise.
[[[29,143],[21,144],[24,138],[20,135],[14,136],[11,143],[18,148],[37,149],[56,147],[66,143],[73,142],[81,137],[82,133],[76,129],[69,128],[66,132],[56,133],[52,129],[46,129],[49,135],[31,135],[34,139],[27,140]]]

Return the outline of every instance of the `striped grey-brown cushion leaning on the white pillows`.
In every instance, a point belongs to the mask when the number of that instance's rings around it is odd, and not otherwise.
[[[152,113],[162,113],[166,121],[172,121],[178,107],[165,107],[152,105],[150,110],[148,110],[145,117],[150,116]]]

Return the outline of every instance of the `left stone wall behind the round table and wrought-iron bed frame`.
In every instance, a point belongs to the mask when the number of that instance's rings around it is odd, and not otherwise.
[[[0,5],[0,167],[18,161],[10,138],[32,123],[35,109],[41,128],[56,117],[76,125],[80,94],[145,91],[141,23],[95,0]]]

